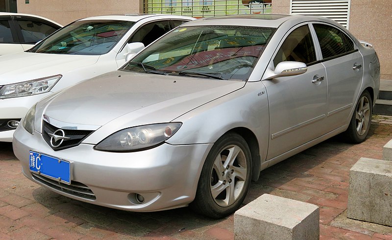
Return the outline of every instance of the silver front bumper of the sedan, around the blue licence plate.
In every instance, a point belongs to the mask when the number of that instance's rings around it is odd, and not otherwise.
[[[130,153],[103,152],[93,147],[79,144],[53,151],[40,133],[31,135],[23,127],[17,128],[13,141],[22,171],[33,182],[73,199],[137,212],[183,207],[192,202],[212,144],[162,144]],[[30,150],[73,162],[71,184],[87,186],[95,199],[65,191],[34,176],[29,170]],[[143,203],[135,201],[136,193],[145,198]]]

